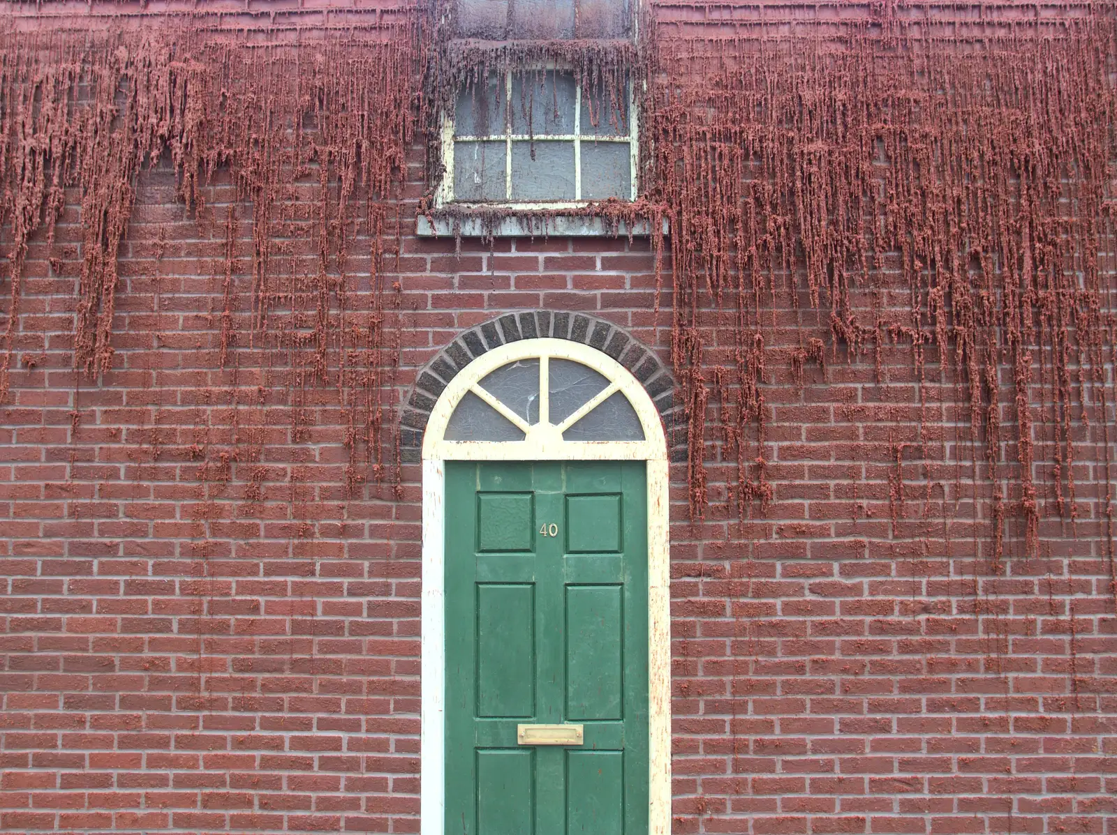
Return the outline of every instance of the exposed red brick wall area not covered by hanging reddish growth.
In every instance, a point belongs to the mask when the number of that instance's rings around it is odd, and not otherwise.
[[[418,468],[398,498],[346,491],[334,391],[265,409],[267,357],[218,367],[225,244],[172,185],[141,182],[101,380],[70,371],[76,205],[29,253],[0,406],[0,829],[413,832]],[[651,266],[640,240],[456,255],[408,234],[388,276],[401,399],[460,330],[514,310],[592,313],[666,362]],[[818,330],[780,315],[773,352]],[[895,464],[919,424],[906,352],[880,382],[871,356],[828,351],[802,385],[779,368],[766,516],[691,522],[672,471],[675,831],[1117,832],[1101,429],[1079,439],[1077,526],[1044,521],[1039,558],[1010,530],[996,568],[966,471]],[[951,381],[928,402],[935,442],[965,443]],[[237,458],[248,436],[258,460]],[[733,478],[712,467],[715,500]]]

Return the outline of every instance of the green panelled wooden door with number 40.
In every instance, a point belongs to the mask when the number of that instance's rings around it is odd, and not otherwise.
[[[447,835],[647,835],[643,462],[448,462]],[[580,746],[518,745],[579,723]]]

